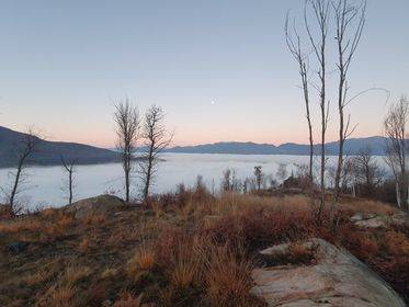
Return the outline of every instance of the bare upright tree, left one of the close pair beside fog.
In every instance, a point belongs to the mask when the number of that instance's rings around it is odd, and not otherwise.
[[[136,106],[128,99],[115,104],[114,121],[116,123],[116,148],[121,154],[122,167],[125,175],[125,200],[129,202],[130,172],[139,138],[140,120]]]

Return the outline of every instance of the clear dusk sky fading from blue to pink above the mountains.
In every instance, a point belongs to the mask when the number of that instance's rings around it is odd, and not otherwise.
[[[287,11],[299,16],[303,3],[0,0],[0,125],[111,147],[113,105],[128,98],[141,114],[163,107],[174,145],[307,143],[284,35]],[[368,0],[351,94],[379,87],[390,98],[372,91],[350,106],[354,137],[382,134],[388,105],[409,94],[408,12],[408,0]],[[328,82],[336,81],[333,66]],[[337,138],[333,98],[329,140]],[[318,99],[311,103],[318,139]]]

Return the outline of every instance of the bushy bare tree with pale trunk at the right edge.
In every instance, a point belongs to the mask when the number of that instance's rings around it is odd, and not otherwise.
[[[386,144],[386,162],[390,167],[396,180],[396,198],[399,207],[408,202],[408,174],[406,170],[406,151],[408,144],[406,140],[406,125],[408,123],[409,105],[408,100],[402,96],[400,101],[391,105],[384,122]]]

